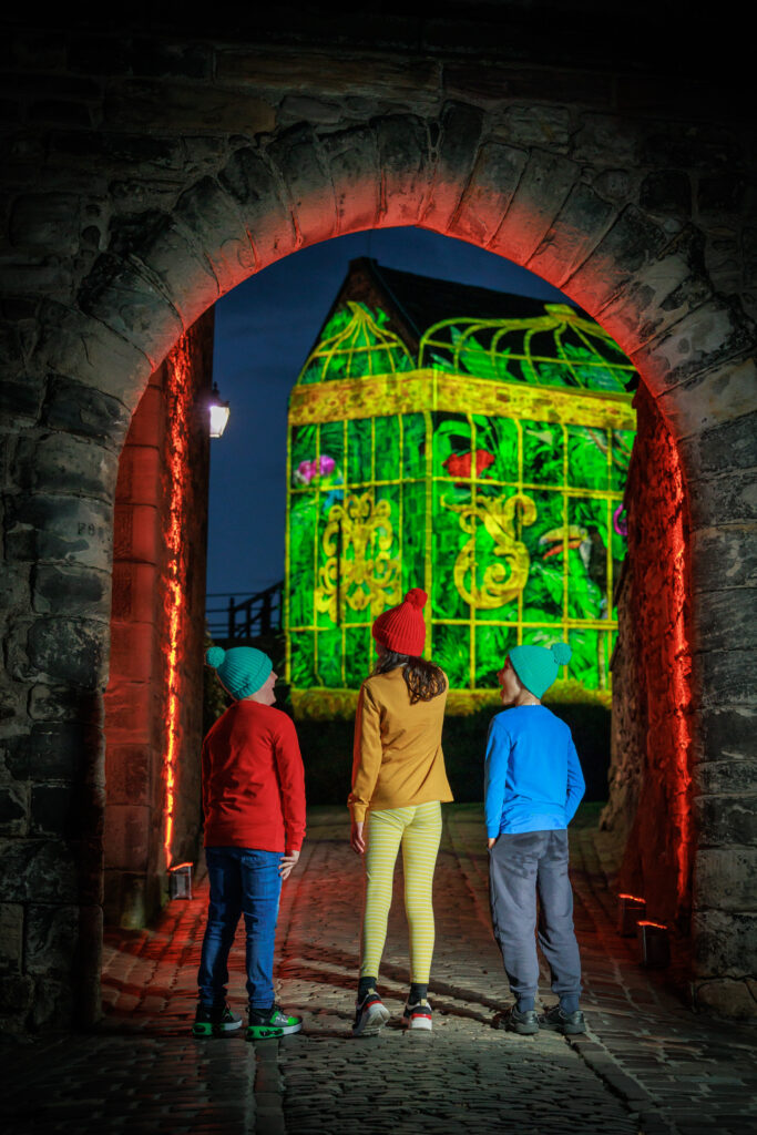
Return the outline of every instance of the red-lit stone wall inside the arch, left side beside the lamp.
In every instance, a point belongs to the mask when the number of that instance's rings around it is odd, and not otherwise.
[[[104,916],[124,926],[144,925],[167,866],[196,855],[212,333],[211,309],[151,376],[118,468]]]

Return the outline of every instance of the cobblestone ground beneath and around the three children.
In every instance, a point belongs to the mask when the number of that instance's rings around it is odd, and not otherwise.
[[[586,1037],[516,1037],[496,1028],[508,998],[488,917],[481,813],[462,805],[446,809],[436,877],[434,1033],[398,1027],[407,980],[398,890],[381,974],[393,1020],[379,1037],[352,1040],[362,877],[346,834],[346,813],[313,809],[281,900],[277,995],[303,1012],[302,1034],[254,1046],[238,1035],[188,1035],[207,902],[201,884],[192,901],[169,905],[157,930],[109,938],[107,1012],[96,1033],[5,1046],[3,1129],[757,1132],[757,1033],[692,1015],[658,975],[639,967],[633,943],[614,931],[612,849],[591,827],[572,831]],[[238,1009],[243,955],[238,934],[229,990]]]

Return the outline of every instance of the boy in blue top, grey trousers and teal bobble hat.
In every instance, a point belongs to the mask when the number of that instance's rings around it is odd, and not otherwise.
[[[504,1026],[522,1035],[538,1033],[539,1024],[561,1033],[586,1032],[566,831],[586,785],[570,729],[540,701],[570,658],[565,642],[514,647],[497,674],[505,711],[491,722],[487,741],[483,808],[491,922],[516,999]],[[541,1022],[533,1008],[537,891],[539,945],[560,998]]]

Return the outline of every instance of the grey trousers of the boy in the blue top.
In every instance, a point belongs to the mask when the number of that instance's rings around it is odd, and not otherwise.
[[[539,945],[558,997],[581,992],[581,959],[573,931],[573,891],[567,876],[567,832],[503,833],[489,852],[494,936],[512,993],[533,997],[539,961],[533,932],[539,893]]]

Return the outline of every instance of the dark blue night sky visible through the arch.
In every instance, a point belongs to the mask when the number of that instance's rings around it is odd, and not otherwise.
[[[564,297],[490,252],[418,228],[356,233],[285,257],[216,304],[213,377],[232,414],[211,443],[208,591],[284,578],[287,398],[356,257],[544,300]]]

